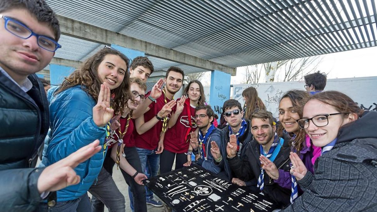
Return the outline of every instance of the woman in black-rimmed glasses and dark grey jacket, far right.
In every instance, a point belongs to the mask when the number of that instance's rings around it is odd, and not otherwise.
[[[312,95],[297,122],[322,155],[312,174],[291,152],[291,174],[304,193],[282,211],[376,211],[376,119],[343,93]]]

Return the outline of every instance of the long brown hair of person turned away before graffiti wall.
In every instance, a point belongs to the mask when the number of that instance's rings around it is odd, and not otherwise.
[[[242,91],[242,96],[246,97],[246,102],[244,104],[244,108],[246,107],[245,111],[245,118],[250,120],[251,114],[255,112],[257,109],[265,110],[266,106],[264,105],[261,98],[258,97],[257,89],[254,87],[248,87],[244,91]]]

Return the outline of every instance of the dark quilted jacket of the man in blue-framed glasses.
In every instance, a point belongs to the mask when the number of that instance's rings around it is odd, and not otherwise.
[[[37,180],[43,169],[32,167],[49,128],[49,110],[43,84],[35,74],[28,78],[33,87],[25,93],[0,72],[2,211],[32,211],[41,200]]]

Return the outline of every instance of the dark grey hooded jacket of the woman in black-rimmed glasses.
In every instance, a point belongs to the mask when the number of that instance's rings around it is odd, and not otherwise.
[[[331,151],[297,181],[304,193],[284,211],[377,211],[377,112],[343,126]]]

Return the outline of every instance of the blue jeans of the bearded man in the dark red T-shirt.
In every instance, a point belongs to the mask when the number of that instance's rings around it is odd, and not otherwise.
[[[136,148],[139,154],[140,163],[141,163],[141,169],[146,170],[145,175],[149,177],[156,176],[158,174],[158,171],[160,169],[160,155],[156,154],[156,150],[149,150],[149,149],[141,149]],[[153,198],[153,192],[149,188],[145,186],[146,190],[146,199],[150,200]],[[130,206],[133,211],[133,197],[130,194]]]

